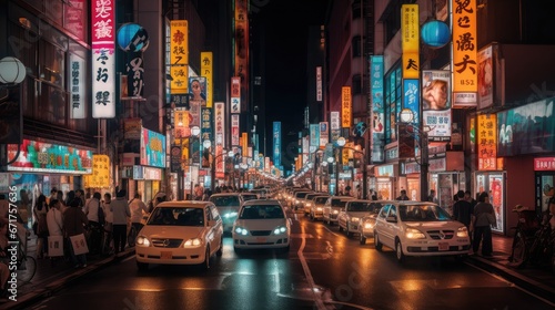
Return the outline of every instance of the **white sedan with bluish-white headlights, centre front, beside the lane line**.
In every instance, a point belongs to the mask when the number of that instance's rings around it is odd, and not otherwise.
[[[233,249],[282,249],[289,251],[291,223],[279,200],[249,200],[233,225]]]

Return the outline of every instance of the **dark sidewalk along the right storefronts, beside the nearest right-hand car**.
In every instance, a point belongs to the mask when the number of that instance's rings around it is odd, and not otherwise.
[[[555,273],[548,267],[531,266],[516,269],[509,267],[513,237],[493,235],[493,257],[470,256],[470,262],[539,296],[555,300]]]

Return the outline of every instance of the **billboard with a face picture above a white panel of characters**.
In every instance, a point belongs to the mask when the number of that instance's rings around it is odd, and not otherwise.
[[[422,114],[430,141],[451,141],[450,71],[422,71]]]

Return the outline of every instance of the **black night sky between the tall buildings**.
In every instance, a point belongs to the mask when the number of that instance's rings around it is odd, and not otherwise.
[[[306,106],[309,25],[324,23],[327,0],[251,1],[256,27],[265,28],[266,156],[272,157],[272,124],[282,122],[282,164],[291,169]],[[260,124],[262,126],[262,124]],[[262,128],[261,128],[262,130]],[[261,144],[263,143],[261,136]]]

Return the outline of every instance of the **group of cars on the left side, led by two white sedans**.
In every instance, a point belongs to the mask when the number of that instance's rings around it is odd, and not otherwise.
[[[291,220],[279,200],[258,193],[221,193],[208,202],[164,202],[138,232],[139,270],[150,264],[201,265],[223,254],[223,238],[231,235],[236,252],[276,248],[289,251]]]

